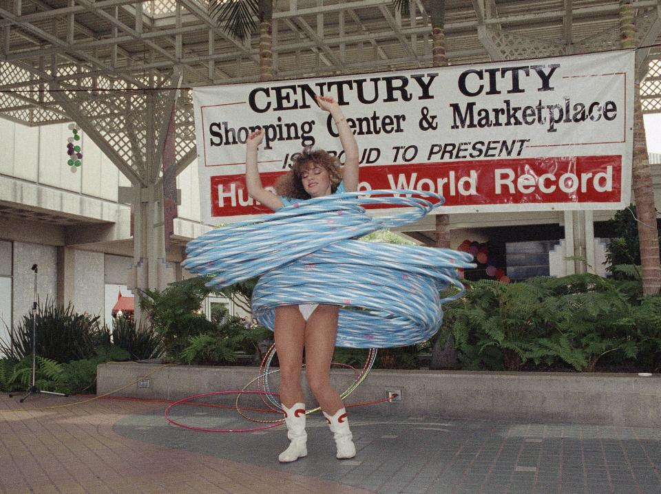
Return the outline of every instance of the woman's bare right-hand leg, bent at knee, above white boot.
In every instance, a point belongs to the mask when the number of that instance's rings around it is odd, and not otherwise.
[[[344,405],[339,393],[330,385],[330,362],[335,350],[337,315],[335,305],[319,305],[305,326],[305,374],[319,406],[333,415]]]

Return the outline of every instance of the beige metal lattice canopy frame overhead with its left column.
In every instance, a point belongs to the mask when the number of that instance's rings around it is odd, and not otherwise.
[[[661,0],[632,4],[637,45],[660,42]],[[410,5],[402,17],[392,0],[275,0],[274,77],[431,65],[428,2]],[[162,228],[162,144],[173,112],[177,171],[196,156],[186,88],[260,77],[258,34],[236,41],[207,6],[0,0],[0,118],[75,120],[131,180],[138,286],[162,286],[162,235],[151,230]],[[445,51],[459,64],[613,50],[618,11],[617,0],[445,0]],[[643,111],[661,112],[660,47],[638,50],[637,69]]]

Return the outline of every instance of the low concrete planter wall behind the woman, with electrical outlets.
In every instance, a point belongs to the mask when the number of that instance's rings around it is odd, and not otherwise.
[[[114,391],[146,376],[149,387],[133,384],[116,394],[174,400],[242,389],[257,376],[257,370],[107,363],[98,366],[97,391]],[[333,370],[331,378],[337,389],[346,389],[353,382],[353,372]],[[277,374],[271,388],[277,389]],[[370,407],[370,413],[661,427],[658,375],[373,370],[346,402],[385,398],[387,390],[395,389],[401,390],[401,402]],[[308,394],[306,402],[309,406],[315,400]]]

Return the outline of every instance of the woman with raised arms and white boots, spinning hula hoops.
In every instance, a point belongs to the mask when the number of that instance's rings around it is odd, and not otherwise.
[[[358,145],[342,110],[333,98],[317,96],[317,104],[335,120],[344,149],[344,166],[326,151],[305,149],[293,162],[291,171],[275,184],[278,195],[262,186],[257,165],[258,146],[264,131],[258,130],[246,142],[246,186],[249,195],[273,211],[294,202],[358,188]],[[280,402],[284,411],[289,447],[280,462],[293,462],[308,454],[305,404],[301,367],[305,349],[306,378],[333,432],[337,458],[356,455],[346,410],[339,393],[330,385],[330,363],[335,350],[339,307],[316,303],[281,305],[275,309],[275,349],[280,363]]]

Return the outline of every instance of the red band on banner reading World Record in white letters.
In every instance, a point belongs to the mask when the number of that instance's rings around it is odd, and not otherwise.
[[[261,173],[264,187],[282,171]],[[445,206],[616,203],[622,194],[622,157],[568,156],[361,167],[359,190],[413,189],[445,197]],[[244,175],[211,177],[211,215],[253,215]]]

